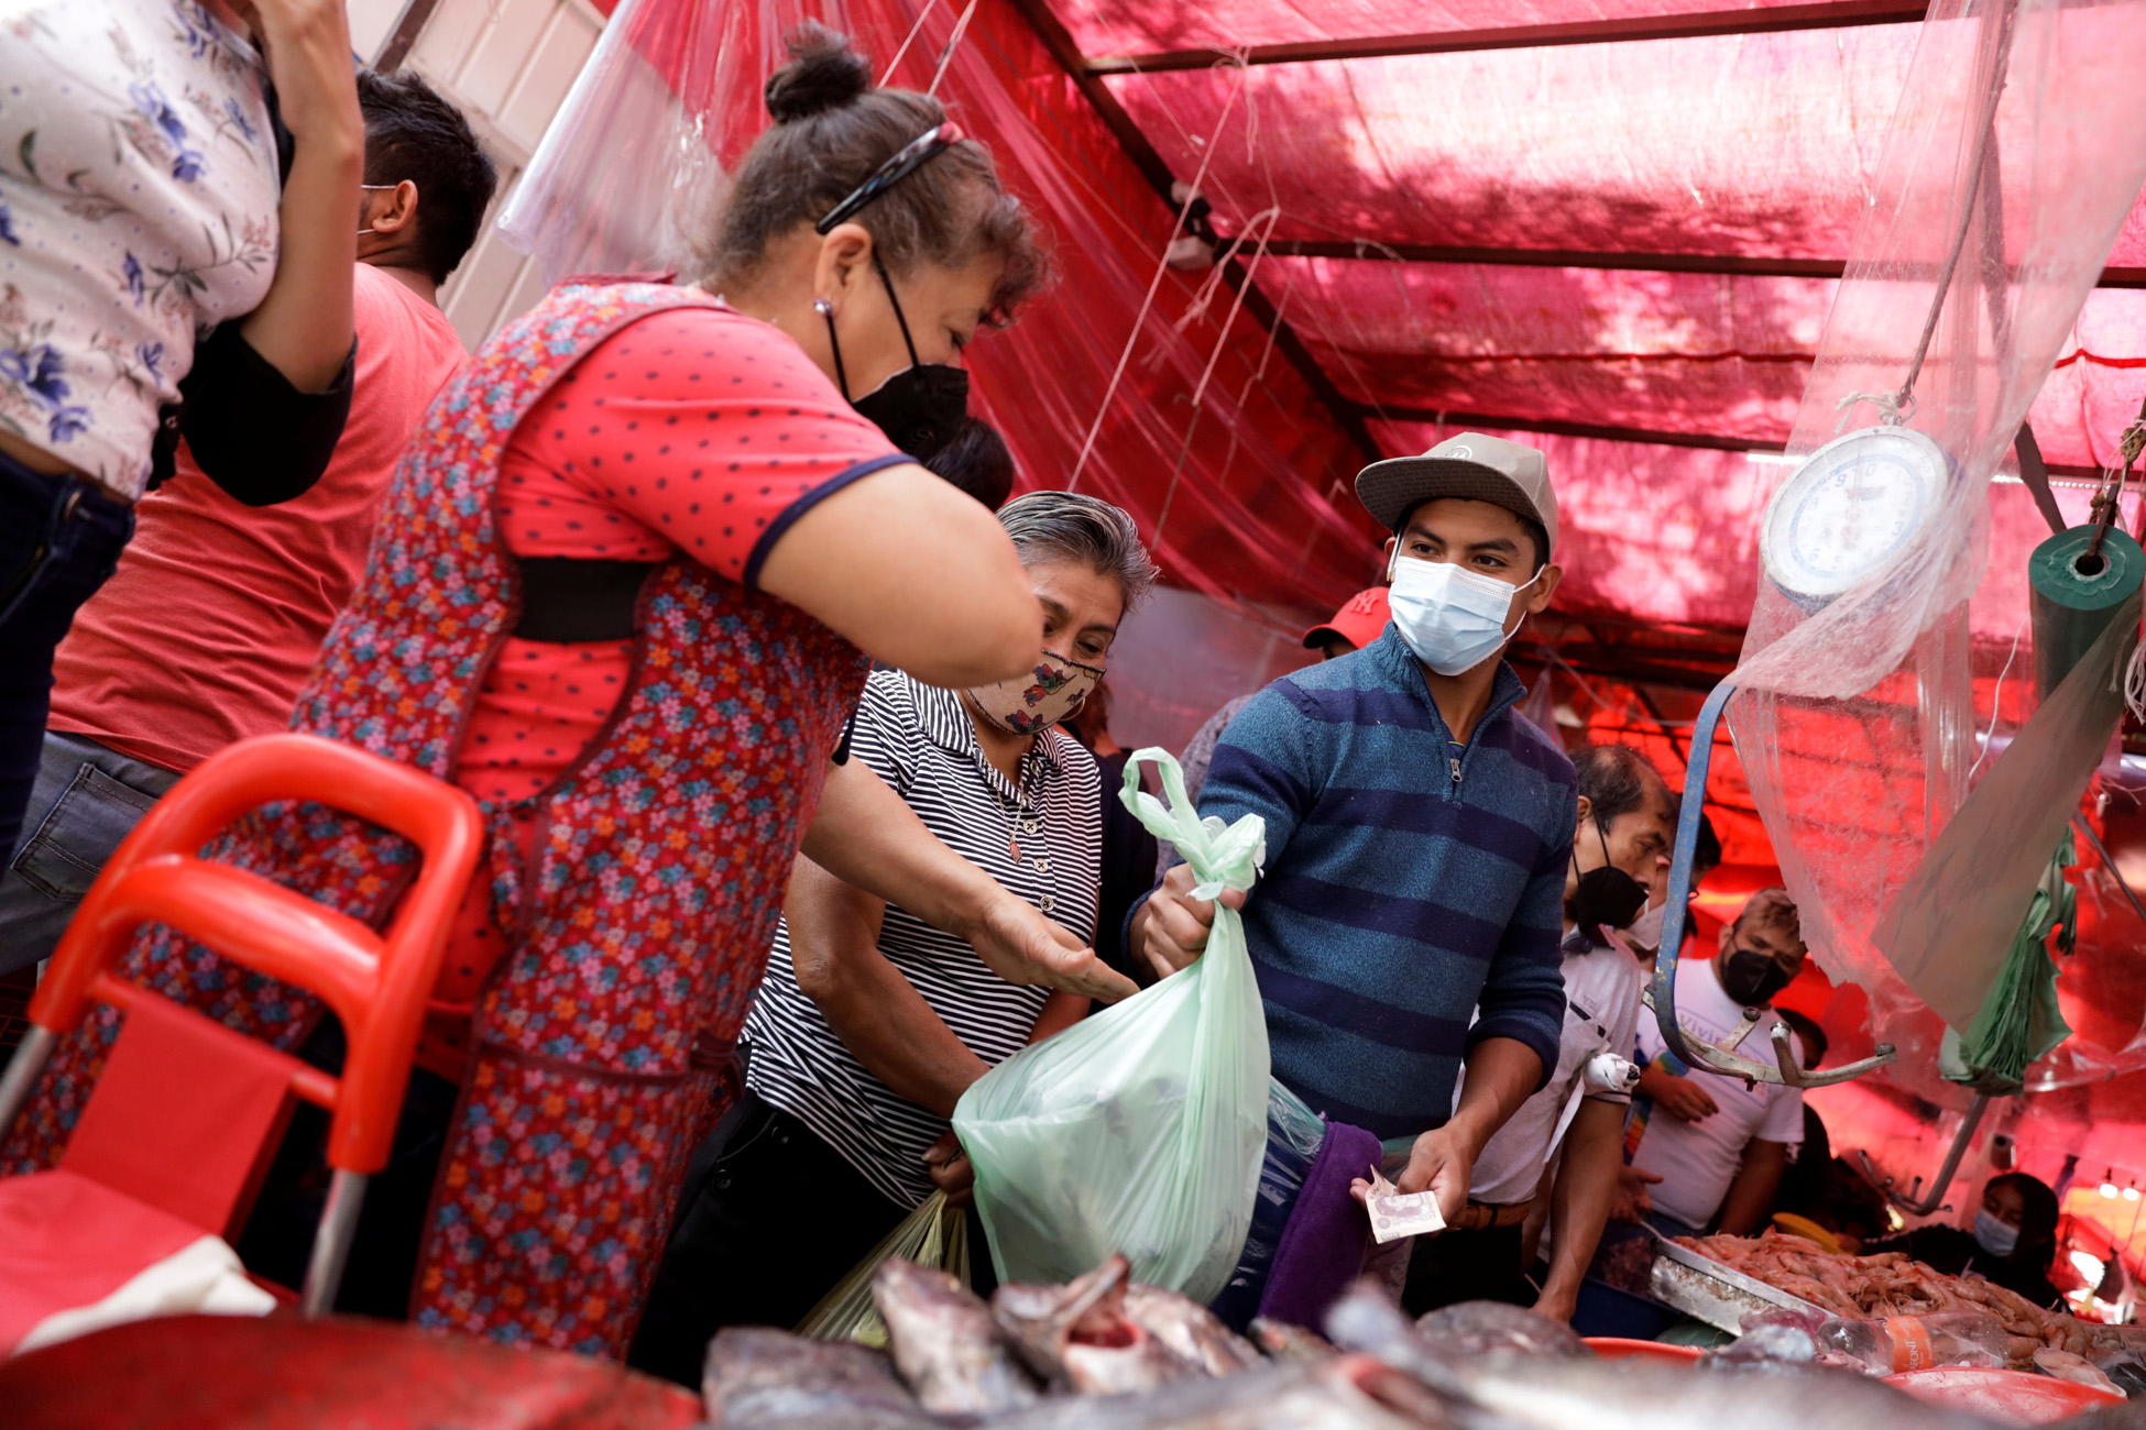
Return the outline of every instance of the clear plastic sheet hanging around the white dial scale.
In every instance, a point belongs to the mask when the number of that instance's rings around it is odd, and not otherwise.
[[[1974,965],[1979,954],[1966,943],[1991,937],[1994,915],[1981,909],[1972,879],[2013,860],[2045,862],[2054,847],[2045,834],[2077,808],[2084,780],[2007,774],[2015,802],[2004,817],[1974,825],[1987,847],[1925,868],[1968,798],[1976,761],[1968,602],[1989,551],[1989,478],[2146,178],[2146,148],[2135,144],[2146,124],[2135,64],[2146,4],[2022,0],[1996,144],[1985,148],[1983,118],[2007,51],[2004,15],[1996,0],[1940,0],[1923,26],[1871,210],[1790,440],[1790,455],[1805,455],[1843,422],[1878,420],[1876,405],[1843,407],[1843,399],[1893,392],[1908,377],[1966,217],[1964,259],[1944,294],[1910,420],[1953,457],[1955,482],[1904,557],[1816,615],[1762,577],[1736,675],[1743,692],[1730,707],[1805,937],[1831,975],[1871,990],[1880,1023],[1912,1006],[1880,950],[1886,909],[1912,885],[1912,907],[1888,926],[1895,950],[1914,960],[1912,950],[1927,945],[1959,958],[1955,967]],[[2024,602],[2017,613],[2024,617]],[[2084,718],[2084,710],[2073,714]],[[2112,733],[2114,718],[2092,744]],[[2088,733],[2067,727],[2054,740],[2056,748],[2041,735],[2019,740],[1994,763],[2019,763],[2024,774],[2049,761],[2047,774],[2060,765],[2069,774],[2060,753],[2075,753]],[[1998,774],[1985,765],[1983,778]],[[1873,828],[1891,836],[1873,838]],[[1916,963],[1916,986],[1934,986],[1931,978]],[[1955,1012],[1979,1001],[1964,975],[1942,995]]]

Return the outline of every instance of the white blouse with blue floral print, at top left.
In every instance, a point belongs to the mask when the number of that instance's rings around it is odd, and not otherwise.
[[[137,497],[195,337],[275,279],[264,66],[193,0],[0,15],[0,427]]]

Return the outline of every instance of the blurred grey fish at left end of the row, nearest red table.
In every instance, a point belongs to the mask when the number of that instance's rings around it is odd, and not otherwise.
[[[893,1361],[846,1340],[732,1325],[708,1342],[700,1381],[710,1426],[925,1430],[931,1419]]]

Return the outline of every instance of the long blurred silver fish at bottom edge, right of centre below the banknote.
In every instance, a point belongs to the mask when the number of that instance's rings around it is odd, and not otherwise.
[[[1346,1351],[1376,1355],[1423,1385],[1472,1402],[1513,1430],[1991,1430],[1964,1415],[1850,1372],[1811,1370],[1792,1394],[1777,1376],[1734,1366],[1693,1374],[1680,1366],[1597,1357],[1470,1351],[1431,1338],[1380,1291],[1356,1286],[1326,1316]]]

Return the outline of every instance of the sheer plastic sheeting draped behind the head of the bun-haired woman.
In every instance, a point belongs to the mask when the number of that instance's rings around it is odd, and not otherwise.
[[[794,24],[846,30],[882,73],[901,51],[895,81],[925,88],[957,15],[918,0],[627,0],[502,227],[552,279],[691,274]],[[1019,487],[1125,506],[1172,583],[1275,630],[1294,624],[1268,613],[1277,602],[1331,611],[1369,583],[1376,540],[1348,487],[1363,452],[1234,294],[1172,270],[1135,337],[1174,217],[1011,6],[976,9],[938,94],[1056,251],[1056,287],[972,349],[974,407],[1013,446]]]

